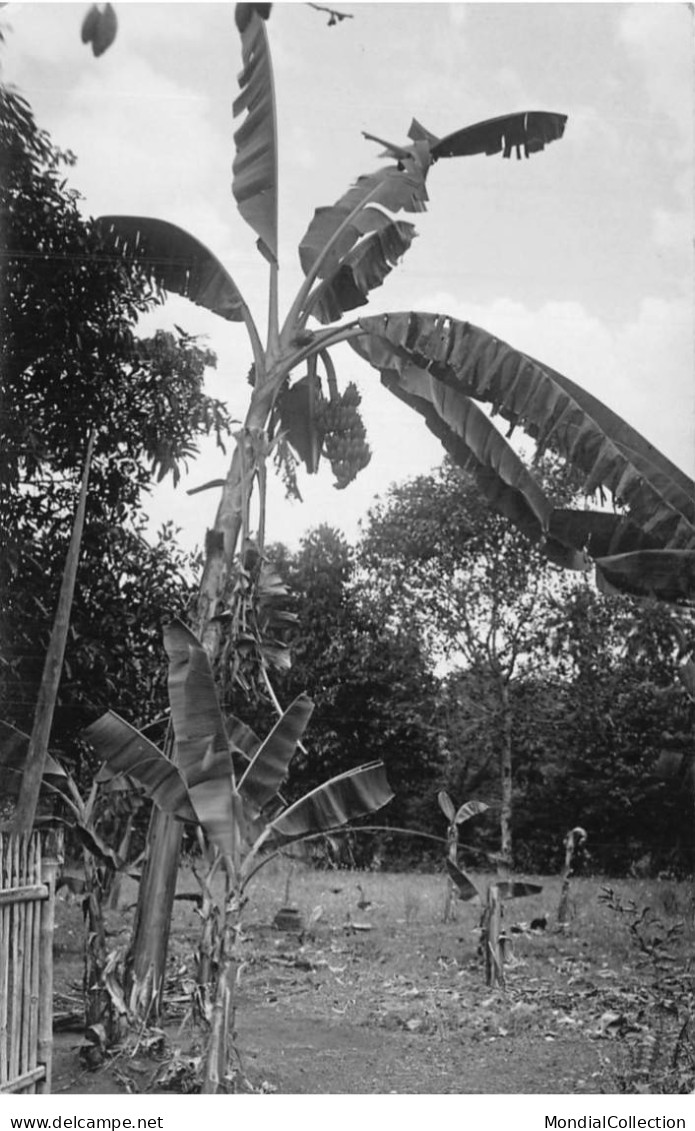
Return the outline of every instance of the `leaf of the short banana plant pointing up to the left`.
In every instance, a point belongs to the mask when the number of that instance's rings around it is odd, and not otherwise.
[[[182,821],[198,821],[179,769],[158,746],[115,711],[106,711],[84,734],[104,760],[99,771],[102,780],[125,774],[165,813],[172,813]]]

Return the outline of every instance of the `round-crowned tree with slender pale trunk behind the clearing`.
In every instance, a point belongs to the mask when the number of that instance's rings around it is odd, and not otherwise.
[[[381,589],[398,620],[420,628],[435,657],[463,668],[448,682],[448,715],[459,732],[454,761],[475,750],[475,767],[467,760],[468,780],[459,772],[448,785],[470,796],[496,766],[501,852],[511,865],[513,688],[544,650],[544,607],[558,578],[450,461],[391,487],[370,515],[362,561],[367,588]]]

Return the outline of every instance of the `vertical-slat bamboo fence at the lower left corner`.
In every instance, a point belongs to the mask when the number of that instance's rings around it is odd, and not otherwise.
[[[0,834],[0,1093],[51,1090],[55,863]]]

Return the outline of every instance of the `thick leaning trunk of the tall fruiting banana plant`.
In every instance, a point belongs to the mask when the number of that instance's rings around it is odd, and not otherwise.
[[[219,611],[240,534],[246,520],[245,502],[255,474],[253,437],[267,425],[272,385],[254,391],[245,426],[236,438],[232,465],[221,492],[215,526],[206,538],[206,561],[198,593],[193,631],[215,658],[220,644]],[[257,395],[258,392],[258,395]],[[175,759],[175,754],[174,754]],[[125,1000],[134,1018],[156,1018],[162,1005],[168,935],[176,893],[183,827],[173,817],[153,810],[147,838],[133,933],[125,962]]]

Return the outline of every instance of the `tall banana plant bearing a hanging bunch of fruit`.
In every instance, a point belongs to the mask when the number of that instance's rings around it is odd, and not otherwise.
[[[566,115],[523,111],[464,126],[440,137],[412,120],[403,143],[383,140],[386,164],[359,176],[322,206],[299,243],[304,280],[280,320],[278,295],[278,146],[270,5],[240,3],[240,93],[233,105],[232,191],[268,265],[263,343],[243,293],[227,268],[194,235],[162,219],[104,216],[103,254],[134,257],[162,291],[184,295],[223,320],[242,322],[252,356],[243,426],[211,530],[193,628],[215,657],[224,632],[225,593],[236,547],[249,535],[252,489],[266,490],[272,452],[294,481],[297,464],[315,474],[322,460],[345,487],[370,458],[359,395],[338,379],[335,347],[348,343],[383,386],[419,413],[457,464],[469,468],[490,506],[570,569],[592,563],[605,589],[681,601],[695,593],[695,487],[664,456],[596,397],[529,355],[468,322],[440,313],[348,317],[364,307],[407,253],[414,225],[400,214],[423,211],[437,162],[476,155],[540,154],[563,138]],[[96,25],[93,31],[96,29]],[[101,45],[101,40],[97,46]],[[314,325],[310,325],[313,320]],[[318,323],[318,325],[316,325]],[[608,493],[619,512],[557,509],[540,478],[520,459],[489,415],[511,433],[519,426],[584,476],[588,493]],[[216,482],[210,486],[218,486]],[[261,506],[261,510],[263,510]],[[262,545],[261,545],[262,552]],[[134,965],[158,966],[160,981],[173,906],[180,832],[156,815],[132,942]],[[148,948],[155,947],[156,952]],[[145,994],[145,1015],[151,1001]]]

